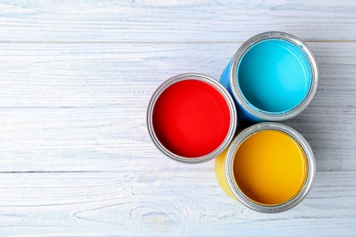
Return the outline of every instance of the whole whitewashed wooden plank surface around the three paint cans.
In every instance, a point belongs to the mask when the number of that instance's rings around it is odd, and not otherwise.
[[[281,30],[319,61],[288,120],[309,140],[308,198],[250,211],[149,138],[148,101],[184,72],[218,78],[249,37]],[[0,2],[0,235],[356,235],[356,2]]]

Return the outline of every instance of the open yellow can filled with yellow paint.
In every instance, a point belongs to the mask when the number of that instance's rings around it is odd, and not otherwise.
[[[242,130],[215,160],[222,189],[246,207],[265,213],[296,206],[309,193],[315,172],[308,141],[276,122]]]

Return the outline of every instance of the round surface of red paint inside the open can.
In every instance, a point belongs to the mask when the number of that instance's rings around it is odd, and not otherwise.
[[[225,98],[209,84],[187,79],[166,88],[153,108],[153,129],[176,155],[201,157],[217,149],[230,127]]]

